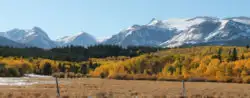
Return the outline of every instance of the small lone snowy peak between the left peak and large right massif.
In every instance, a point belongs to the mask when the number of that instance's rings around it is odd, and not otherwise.
[[[56,40],[59,46],[90,46],[97,44],[97,40],[86,32],[80,32],[73,36],[65,36],[61,39]]]

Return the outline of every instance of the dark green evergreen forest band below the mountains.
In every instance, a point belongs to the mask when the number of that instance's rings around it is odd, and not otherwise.
[[[90,47],[66,46],[52,49],[41,48],[12,48],[0,47],[0,56],[3,57],[23,57],[23,58],[45,58],[51,60],[86,61],[89,58],[105,58],[111,56],[134,57],[143,53],[156,52],[160,48],[129,46],[123,48],[117,45],[96,45]]]

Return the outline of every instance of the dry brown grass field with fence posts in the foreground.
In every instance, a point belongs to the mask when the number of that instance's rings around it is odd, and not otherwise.
[[[59,79],[61,98],[181,98],[181,82]],[[249,84],[186,82],[187,98],[250,98]],[[87,97],[92,96],[92,97]],[[0,86],[0,98],[56,98],[54,84]]]

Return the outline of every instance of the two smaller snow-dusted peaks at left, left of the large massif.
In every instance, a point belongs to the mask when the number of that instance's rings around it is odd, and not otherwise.
[[[97,40],[92,35],[85,32],[80,32],[76,35],[66,36],[53,41],[49,38],[47,33],[39,27],[33,27],[28,30],[16,28],[7,32],[0,32],[0,36],[10,39],[16,43],[45,49],[68,45],[87,47],[97,44]]]

